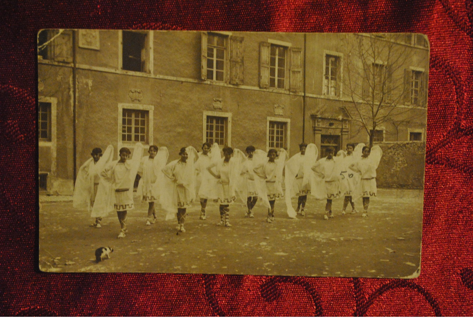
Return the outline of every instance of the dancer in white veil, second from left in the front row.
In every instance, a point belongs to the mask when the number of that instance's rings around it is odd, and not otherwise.
[[[176,229],[185,232],[186,209],[195,199],[195,161],[197,151],[194,147],[181,148],[181,159],[171,161],[163,168],[166,176],[163,182],[159,202],[166,210],[166,220],[177,216]]]

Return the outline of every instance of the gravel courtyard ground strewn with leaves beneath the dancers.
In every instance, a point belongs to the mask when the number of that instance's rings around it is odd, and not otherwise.
[[[129,232],[117,239],[116,214],[93,222],[86,211],[40,197],[39,267],[55,272],[153,272],[344,277],[415,277],[420,267],[422,190],[378,189],[368,218],[341,215],[343,199],[333,201],[335,218],[324,220],[325,201],[308,198],[305,217],[289,219],[283,200],[276,201],[273,224],[257,204],[255,218],[245,207],[230,206],[232,227],[216,226],[218,205],[209,203],[207,220],[199,220],[197,203],[188,214],[185,233],[176,220],[146,226],[147,203],[136,202],[128,213]],[[296,206],[297,198],[293,199]],[[356,202],[362,209],[361,199]],[[348,210],[351,210],[350,208]],[[111,246],[110,259],[96,263],[96,248]]]

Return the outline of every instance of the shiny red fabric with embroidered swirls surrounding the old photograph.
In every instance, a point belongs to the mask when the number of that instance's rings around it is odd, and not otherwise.
[[[1,3],[0,315],[473,315],[472,0]],[[420,277],[36,273],[35,42],[41,28],[427,34]]]

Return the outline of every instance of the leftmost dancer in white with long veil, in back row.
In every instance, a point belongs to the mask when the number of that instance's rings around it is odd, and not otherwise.
[[[100,183],[100,172],[105,165],[109,163],[114,155],[114,147],[109,145],[102,154],[102,149],[94,148],[92,158],[89,158],[77,173],[76,184],[74,186],[74,196],[72,197],[72,206],[76,209],[87,209],[92,212],[95,198],[97,195],[98,184]],[[95,218],[95,223],[91,226],[102,227],[101,217]]]

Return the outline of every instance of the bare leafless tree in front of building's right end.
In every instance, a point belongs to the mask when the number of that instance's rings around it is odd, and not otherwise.
[[[343,81],[345,93],[355,109],[351,115],[366,130],[370,147],[377,127],[389,122],[397,124],[398,129],[410,111],[399,107],[411,93],[410,84],[406,85],[406,76],[410,76],[406,66],[412,52],[403,43],[405,37],[405,34],[356,34],[345,38],[348,57]]]

